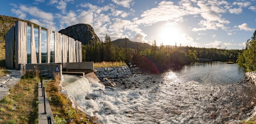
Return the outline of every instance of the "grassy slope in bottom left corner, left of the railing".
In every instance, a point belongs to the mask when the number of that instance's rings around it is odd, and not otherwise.
[[[25,74],[0,101],[1,124],[38,124],[38,77]]]

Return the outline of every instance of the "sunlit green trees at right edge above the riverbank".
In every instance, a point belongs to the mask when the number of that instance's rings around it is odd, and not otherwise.
[[[256,30],[246,42],[246,48],[238,54],[237,64],[247,67],[247,71],[256,70]]]

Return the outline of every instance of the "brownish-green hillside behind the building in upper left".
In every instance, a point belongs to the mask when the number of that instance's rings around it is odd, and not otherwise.
[[[28,20],[19,19],[17,17],[11,17],[6,15],[0,15],[0,43],[5,43],[4,35],[11,29],[11,27],[16,23],[16,21],[27,22],[28,25],[33,24],[35,27],[39,27],[35,23]]]

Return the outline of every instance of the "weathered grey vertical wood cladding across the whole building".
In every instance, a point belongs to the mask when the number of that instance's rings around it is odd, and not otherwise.
[[[17,21],[6,33],[6,67],[20,69],[19,64],[27,64],[27,28],[26,22]],[[34,26],[31,25],[31,63],[41,63],[42,37],[41,29],[38,28],[38,61],[36,58],[36,40]],[[52,30],[47,29],[47,63],[50,63]],[[15,42],[15,43],[14,43]],[[69,52],[68,52],[69,51]],[[15,53],[14,53],[15,52]],[[14,56],[15,55],[15,56]],[[54,33],[54,62],[82,62],[82,43],[61,33]],[[15,58],[14,58],[15,57]],[[15,61],[15,62],[14,62]],[[15,67],[14,67],[15,63]]]

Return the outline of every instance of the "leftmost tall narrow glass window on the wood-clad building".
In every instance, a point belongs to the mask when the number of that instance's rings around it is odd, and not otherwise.
[[[31,26],[27,28],[27,63],[31,63]]]

